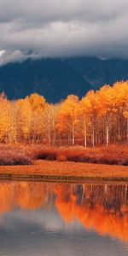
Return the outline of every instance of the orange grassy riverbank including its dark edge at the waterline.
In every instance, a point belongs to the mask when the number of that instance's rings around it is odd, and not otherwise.
[[[128,166],[35,160],[29,166],[0,166],[0,179],[61,182],[128,181]]]

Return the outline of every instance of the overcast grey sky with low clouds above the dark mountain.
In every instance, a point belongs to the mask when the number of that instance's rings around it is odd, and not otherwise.
[[[128,58],[128,0],[0,0],[0,64],[73,55]]]

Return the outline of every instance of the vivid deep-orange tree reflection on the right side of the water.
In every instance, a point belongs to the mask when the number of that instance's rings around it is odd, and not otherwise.
[[[100,235],[128,241],[127,186],[71,185],[70,192],[61,185],[55,188],[55,205],[66,221],[75,218],[87,229]],[[64,196],[64,193],[65,196]]]

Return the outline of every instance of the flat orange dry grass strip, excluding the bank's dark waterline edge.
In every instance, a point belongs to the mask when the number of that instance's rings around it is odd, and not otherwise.
[[[76,162],[58,162],[49,160],[36,160],[29,166],[0,166],[1,174],[22,175],[43,175],[45,177],[128,177],[127,166],[106,166]],[[63,179],[62,179],[63,180]],[[125,180],[125,179],[124,179]]]

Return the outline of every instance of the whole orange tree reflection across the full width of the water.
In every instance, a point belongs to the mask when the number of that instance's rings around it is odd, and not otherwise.
[[[0,214],[55,207],[70,223],[79,220],[86,229],[101,236],[128,241],[128,186],[111,184],[68,184],[1,182]]]

